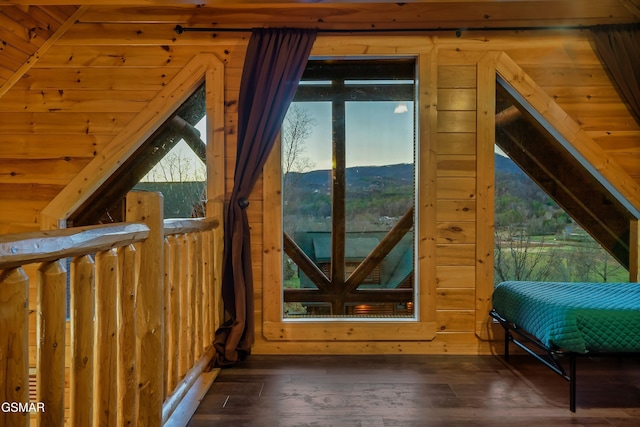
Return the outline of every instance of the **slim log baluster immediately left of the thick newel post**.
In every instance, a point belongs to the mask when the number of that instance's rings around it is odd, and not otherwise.
[[[133,245],[118,249],[117,289],[118,380],[117,425],[134,426],[138,414],[138,366],[136,341],[136,250]]]

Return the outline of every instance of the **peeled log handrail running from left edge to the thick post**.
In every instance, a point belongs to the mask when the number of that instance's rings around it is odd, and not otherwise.
[[[144,223],[121,223],[0,236],[0,270],[105,251],[145,240]]]

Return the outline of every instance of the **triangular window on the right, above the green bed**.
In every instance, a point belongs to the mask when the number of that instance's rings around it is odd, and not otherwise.
[[[495,122],[495,281],[628,281],[615,191],[501,78]]]

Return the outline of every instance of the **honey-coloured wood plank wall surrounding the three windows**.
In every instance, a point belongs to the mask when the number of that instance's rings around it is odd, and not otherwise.
[[[85,14],[0,98],[0,233],[39,228],[38,215],[47,203],[202,52],[225,63],[225,182],[231,189],[248,34],[177,36],[166,17],[159,24],[127,23],[118,22],[124,15],[119,12],[113,22],[101,22],[111,16],[104,12]],[[432,278],[437,291],[427,301],[436,308],[436,339],[272,342],[257,324],[255,353],[489,351],[476,337],[476,322],[482,321],[476,313],[476,290],[482,285],[476,280],[476,236],[478,227],[487,226],[477,222],[476,210],[476,179],[482,172],[476,75],[487,52],[506,52],[640,182],[640,128],[598,61],[588,31],[468,32],[459,38],[443,33],[430,40],[437,50],[437,265]],[[339,43],[348,45],[349,36],[340,36]],[[261,182],[250,202],[255,307],[261,310],[263,294],[275,286],[262,280],[261,260],[270,243],[262,241],[263,227],[278,219],[263,212]]]

